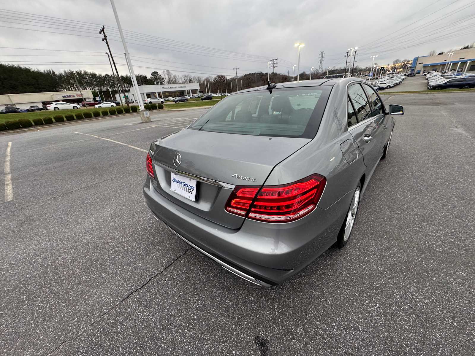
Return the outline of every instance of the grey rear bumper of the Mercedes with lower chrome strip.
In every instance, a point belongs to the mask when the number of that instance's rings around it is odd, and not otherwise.
[[[246,219],[239,229],[210,222],[163,197],[150,179],[143,195],[153,215],[182,240],[252,283],[281,283],[336,242],[352,192],[327,209],[286,224]]]

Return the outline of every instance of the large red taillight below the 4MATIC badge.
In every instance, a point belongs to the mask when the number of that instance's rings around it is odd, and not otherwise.
[[[325,184],[325,177],[313,174],[280,186],[235,187],[226,203],[226,211],[254,220],[286,223],[312,212]]]

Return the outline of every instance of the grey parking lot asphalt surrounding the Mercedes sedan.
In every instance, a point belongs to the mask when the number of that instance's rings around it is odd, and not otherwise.
[[[474,99],[385,95],[405,115],[350,242],[269,289],[191,249],[142,197],[150,142],[206,109],[0,135],[0,353],[474,355]]]

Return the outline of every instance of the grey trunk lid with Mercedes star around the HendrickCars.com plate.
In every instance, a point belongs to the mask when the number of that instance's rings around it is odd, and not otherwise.
[[[261,186],[277,163],[309,141],[183,130],[152,144],[150,154],[156,173],[152,181],[159,193],[177,205],[237,229],[244,218],[224,209],[234,186]],[[195,201],[171,191],[171,173],[196,178]]]

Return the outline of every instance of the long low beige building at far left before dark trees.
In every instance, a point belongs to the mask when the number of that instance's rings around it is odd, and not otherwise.
[[[83,90],[82,92],[85,100],[94,100],[92,91]],[[78,91],[3,94],[0,95],[0,110],[4,109],[5,106],[15,106],[19,109],[28,109],[31,105],[41,107],[43,104],[51,102],[80,103],[82,97]]]

